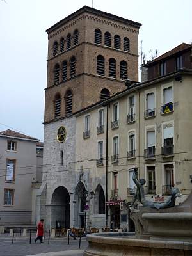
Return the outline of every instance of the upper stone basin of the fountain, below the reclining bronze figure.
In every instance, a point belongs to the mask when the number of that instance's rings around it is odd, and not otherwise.
[[[192,242],[192,214],[189,212],[143,213],[150,239]]]

